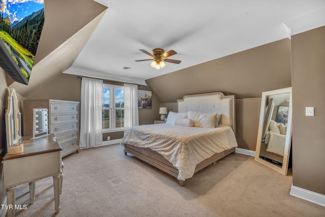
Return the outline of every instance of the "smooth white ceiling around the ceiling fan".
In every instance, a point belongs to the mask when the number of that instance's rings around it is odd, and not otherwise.
[[[144,80],[325,25],[324,0],[95,0],[108,7],[64,73],[145,84]],[[285,25],[285,24],[286,25]],[[290,27],[289,29],[287,28]],[[154,48],[178,54],[154,69]],[[131,67],[130,70],[122,69]]]

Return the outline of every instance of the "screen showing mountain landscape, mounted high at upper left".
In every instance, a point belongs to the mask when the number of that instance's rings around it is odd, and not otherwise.
[[[0,67],[28,85],[44,24],[43,0],[0,1]]]

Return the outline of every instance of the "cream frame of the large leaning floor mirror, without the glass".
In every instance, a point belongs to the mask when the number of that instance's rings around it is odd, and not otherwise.
[[[266,101],[267,97],[270,95],[281,94],[281,93],[290,93],[290,101],[289,101],[289,111],[288,111],[288,122],[286,128],[286,136],[285,137],[285,146],[284,146],[284,155],[283,155],[283,162],[282,168],[276,166],[266,160],[259,158],[259,153],[261,152],[261,142],[262,137],[264,134],[264,121],[265,121],[265,110],[266,110]],[[258,124],[258,133],[257,133],[257,142],[256,142],[256,150],[255,150],[255,161],[262,163],[263,165],[274,169],[275,171],[286,175],[288,171],[288,162],[289,162],[289,154],[290,154],[290,146],[291,146],[291,136],[292,136],[292,120],[293,120],[293,110],[292,110],[292,91],[291,87],[278,89],[278,90],[271,90],[262,93],[262,100],[261,100],[261,112],[259,113],[259,124]]]

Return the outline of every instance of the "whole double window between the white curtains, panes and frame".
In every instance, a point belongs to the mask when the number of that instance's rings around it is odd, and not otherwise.
[[[103,84],[104,131],[124,129],[124,87]]]

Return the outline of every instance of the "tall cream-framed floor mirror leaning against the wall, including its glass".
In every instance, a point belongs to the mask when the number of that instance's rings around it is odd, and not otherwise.
[[[292,134],[291,87],[262,93],[255,161],[287,174]]]

